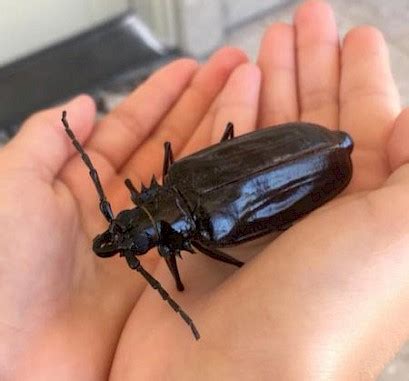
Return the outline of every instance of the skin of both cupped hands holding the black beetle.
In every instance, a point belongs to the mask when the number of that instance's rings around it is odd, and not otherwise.
[[[114,213],[131,207],[123,179],[160,176],[164,141],[182,157],[228,121],[237,134],[296,120],[347,131],[354,174],[274,241],[235,251],[240,270],[185,253],[184,293],[155,251],[141,258],[195,341],[123,259],[93,255],[106,221],[63,108]],[[0,150],[0,379],[374,379],[409,334],[407,141],[381,33],[355,28],[341,48],[320,1],[272,25],[256,64],[224,48],[167,65],[97,123],[87,96],[35,114]]]

